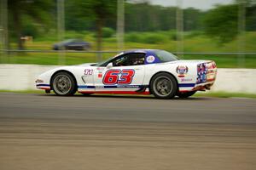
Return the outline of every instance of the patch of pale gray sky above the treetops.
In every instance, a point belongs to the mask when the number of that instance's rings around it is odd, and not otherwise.
[[[162,6],[177,6],[177,0],[148,0],[152,4],[159,4]],[[182,0],[183,8],[200,8],[209,9],[214,7],[215,4],[229,4],[234,0]]]

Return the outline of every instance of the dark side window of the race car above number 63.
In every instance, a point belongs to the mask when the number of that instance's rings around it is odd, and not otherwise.
[[[125,54],[113,60],[113,66],[144,65],[145,54]]]

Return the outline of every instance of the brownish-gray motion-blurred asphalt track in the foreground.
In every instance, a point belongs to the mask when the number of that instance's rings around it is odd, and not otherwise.
[[[0,169],[256,169],[256,99],[0,94]]]

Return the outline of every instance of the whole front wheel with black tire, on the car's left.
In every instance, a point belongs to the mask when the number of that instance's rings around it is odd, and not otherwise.
[[[56,95],[70,96],[76,93],[77,84],[70,73],[61,71],[52,78],[51,88]]]

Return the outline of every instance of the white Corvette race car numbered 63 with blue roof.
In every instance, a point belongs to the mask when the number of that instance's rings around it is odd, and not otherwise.
[[[44,72],[37,88],[56,95],[154,94],[187,98],[212,87],[217,67],[211,60],[183,60],[158,49],[122,52],[101,63],[71,65]]]

